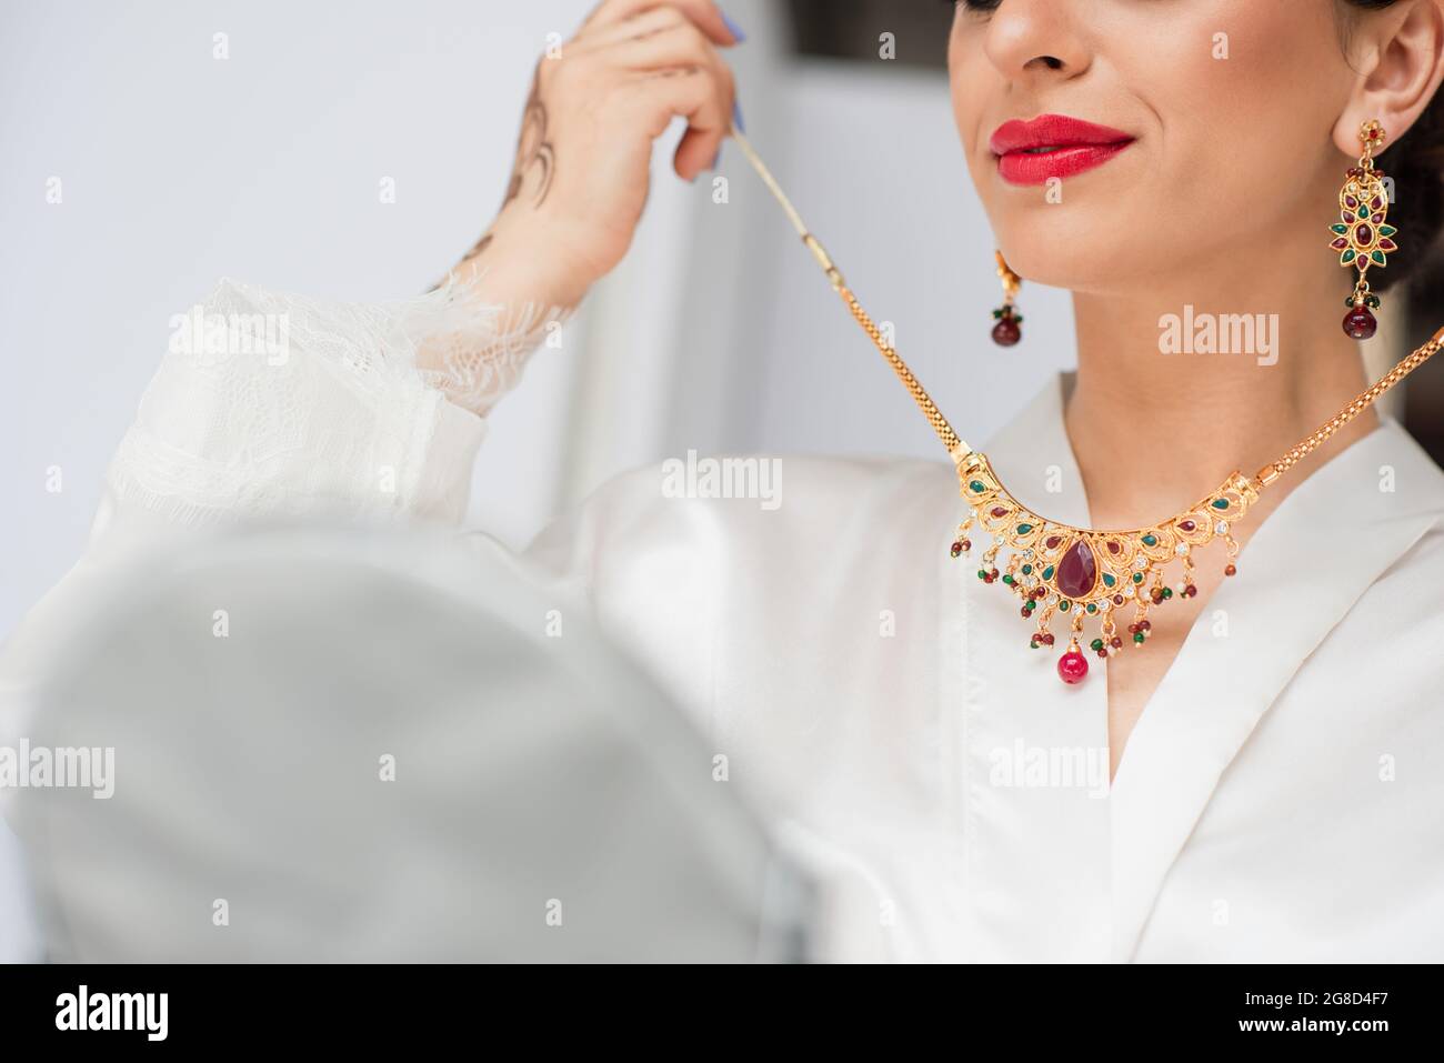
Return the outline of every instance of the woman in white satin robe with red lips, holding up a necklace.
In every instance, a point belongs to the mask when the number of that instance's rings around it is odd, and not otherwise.
[[[539,64],[507,201],[422,300],[222,285],[206,312],[289,315],[289,357],[166,360],[98,546],[12,673],[120,543],[322,507],[456,519],[485,413],[627,251],[653,139],[684,116],[677,173],[712,165],[739,40],[709,0],[605,0]],[[1074,292],[1076,377],[983,448],[1022,506],[1147,527],[1367,386],[1327,228],[1378,121],[1402,251],[1369,295],[1437,234],[1444,0],[973,0],[949,64],[998,246]],[[1161,354],[1186,308],[1276,315],[1276,358]],[[970,508],[947,464],[787,459],[775,508],[664,477],[604,487],[527,560],[768,794],[833,884],[827,956],[1444,958],[1444,474],[1372,409],[1227,524],[1238,579],[1213,539],[1076,685],[992,559],[980,581],[949,556]]]

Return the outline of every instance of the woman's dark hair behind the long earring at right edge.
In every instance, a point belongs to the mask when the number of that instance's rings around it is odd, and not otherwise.
[[[1396,0],[1340,0],[1362,10],[1382,12]],[[1379,169],[1393,178],[1395,204],[1389,222],[1399,253],[1389,269],[1370,273],[1376,290],[1404,283],[1419,272],[1444,230],[1444,104],[1435,95],[1418,121],[1379,156]]]

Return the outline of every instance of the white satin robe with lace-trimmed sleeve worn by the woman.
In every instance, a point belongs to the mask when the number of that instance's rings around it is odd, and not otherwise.
[[[222,283],[206,311],[289,312],[289,354],[166,357],[90,555],[0,661],[7,732],[134,543],[263,514],[459,520],[481,415],[540,322],[459,295],[325,306]],[[451,355],[426,354],[438,339]],[[1060,381],[983,449],[1024,506],[1090,523]],[[950,557],[950,464],[775,468],[771,500],[677,497],[664,465],[619,477],[523,562],[765,796],[826,884],[823,959],[1444,959],[1444,474],[1398,425],[1256,529],[1112,786],[1100,670],[1061,685],[1015,598]]]

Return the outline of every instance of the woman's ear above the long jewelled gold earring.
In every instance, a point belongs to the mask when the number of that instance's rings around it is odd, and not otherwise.
[[[1444,0],[1399,0],[1353,17],[1349,58],[1359,84],[1334,126],[1334,143],[1356,157],[1363,123],[1378,118],[1388,147],[1418,121],[1444,81]]]

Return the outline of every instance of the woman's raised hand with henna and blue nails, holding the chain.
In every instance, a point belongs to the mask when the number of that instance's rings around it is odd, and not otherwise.
[[[734,113],[718,48],[738,40],[712,0],[604,0],[537,62],[505,201],[456,272],[484,269],[498,302],[580,302],[631,246],[673,117],[687,120],[677,173],[715,163]]]

